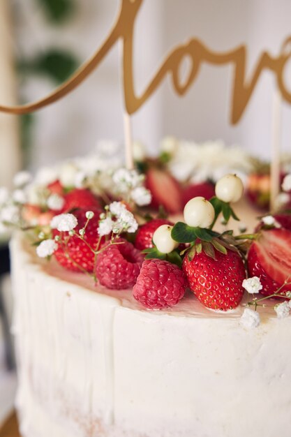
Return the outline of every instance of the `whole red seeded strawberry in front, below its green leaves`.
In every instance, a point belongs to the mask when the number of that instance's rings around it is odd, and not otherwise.
[[[237,252],[229,250],[226,255],[216,249],[214,252],[216,259],[202,251],[190,260],[186,253],[182,267],[191,290],[202,304],[227,311],[236,308],[243,297],[244,262]]]

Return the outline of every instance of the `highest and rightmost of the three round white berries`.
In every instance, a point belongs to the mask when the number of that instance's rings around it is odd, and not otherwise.
[[[238,202],[244,193],[244,185],[237,175],[225,175],[216,183],[215,193],[223,202]]]

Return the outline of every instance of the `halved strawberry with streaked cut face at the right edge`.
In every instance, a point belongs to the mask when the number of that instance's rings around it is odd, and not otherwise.
[[[262,295],[273,294],[291,279],[291,232],[286,229],[261,231],[248,251],[248,272],[260,278]],[[282,292],[289,290],[291,286],[281,289]]]

